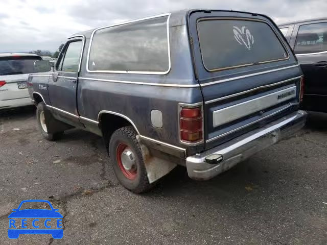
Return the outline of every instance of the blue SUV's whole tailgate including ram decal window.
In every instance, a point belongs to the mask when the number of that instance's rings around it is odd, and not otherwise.
[[[298,109],[301,70],[268,17],[200,10],[190,12],[188,23],[205,149]]]

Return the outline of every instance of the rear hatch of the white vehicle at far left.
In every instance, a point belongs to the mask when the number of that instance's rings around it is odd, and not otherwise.
[[[34,62],[39,56],[0,57],[0,101],[29,97],[27,79],[35,72]]]

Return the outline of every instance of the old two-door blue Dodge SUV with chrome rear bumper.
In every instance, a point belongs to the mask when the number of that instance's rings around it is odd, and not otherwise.
[[[69,37],[29,91],[46,139],[102,136],[116,177],[140,193],[176,165],[211,179],[299,130],[301,81],[269,17],[191,10]]]

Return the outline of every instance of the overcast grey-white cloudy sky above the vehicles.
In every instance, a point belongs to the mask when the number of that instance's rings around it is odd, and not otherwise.
[[[326,0],[1,0],[0,52],[55,52],[88,29],[178,9],[263,13],[277,23],[327,16]]]

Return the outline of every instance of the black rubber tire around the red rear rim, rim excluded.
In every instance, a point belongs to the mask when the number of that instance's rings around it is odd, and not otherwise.
[[[127,145],[135,157],[136,173],[134,179],[126,177],[119,166],[117,154],[119,146],[122,144]],[[136,132],[132,126],[123,127],[113,132],[109,142],[109,156],[115,176],[126,189],[134,193],[142,193],[153,187],[148,181],[141,148],[139,147]]]

